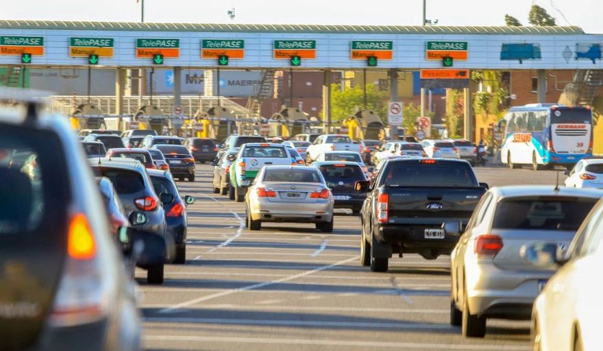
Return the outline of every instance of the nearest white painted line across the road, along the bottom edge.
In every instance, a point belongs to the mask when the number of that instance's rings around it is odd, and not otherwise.
[[[450,345],[450,343],[408,343],[388,341],[364,341],[364,340],[332,340],[332,339],[293,339],[293,338],[267,338],[267,337],[202,337],[198,335],[145,335],[147,341],[195,341],[195,342],[217,342],[217,343],[251,343],[251,344],[283,344],[290,348],[292,345],[314,345],[314,346],[347,346],[352,348],[375,349],[375,348],[397,348],[405,350],[415,348],[420,350],[503,350],[503,351],[527,351],[528,346],[507,345]]]

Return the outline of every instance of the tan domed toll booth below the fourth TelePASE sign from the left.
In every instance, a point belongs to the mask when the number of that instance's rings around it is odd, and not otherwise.
[[[212,106],[205,112],[198,110],[193,124],[197,137],[216,141],[222,141],[238,130],[234,116],[222,106]]]

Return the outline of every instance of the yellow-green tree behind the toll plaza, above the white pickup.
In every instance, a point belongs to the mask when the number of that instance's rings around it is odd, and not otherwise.
[[[374,84],[367,84],[367,110],[376,112],[382,121],[387,121],[386,92],[379,91]],[[345,88],[341,91],[339,84],[331,86],[331,118],[332,121],[343,121],[358,108],[364,108],[364,93],[362,86]]]

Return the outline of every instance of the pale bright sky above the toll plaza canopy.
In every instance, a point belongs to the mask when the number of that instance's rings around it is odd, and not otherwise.
[[[439,25],[504,25],[504,15],[528,23],[532,3],[558,25],[603,34],[602,0],[426,0]],[[420,25],[421,0],[145,0],[145,22]],[[0,0],[0,19],[140,21],[136,0]],[[227,11],[235,8],[235,19]],[[556,10],[556,9],[557,10]],[[565,18],[563,17],[565,15]]]

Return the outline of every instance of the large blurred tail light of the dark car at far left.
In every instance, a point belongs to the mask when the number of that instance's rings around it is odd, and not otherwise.
[[[97,242],[82,213],[69,223],[67,257],[55,294],[49,322],[52,326],[76,326],[97,322],[110,306],[106,280],[110,271],[101,269]]]

